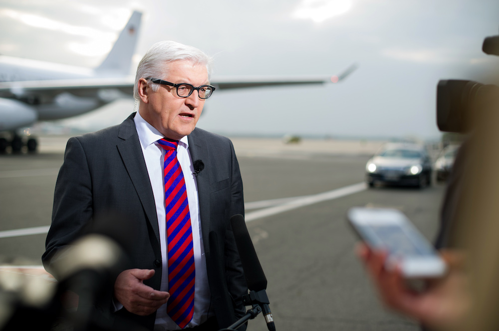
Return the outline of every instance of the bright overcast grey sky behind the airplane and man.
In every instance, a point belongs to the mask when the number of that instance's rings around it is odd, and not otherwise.
[[[499,33],[498,0],[1,0],[0,53],[94,67],[135,9],[143,12],[137,62],[171,39],[214,56],[214,77],[334,75],[359,65],[338,84],[216,91],[198,126],[227,135],[438,137],[438,81],[489,83],[499,65],[482,52],[484,38]],[[132,107],[77,122],[117,124]]]

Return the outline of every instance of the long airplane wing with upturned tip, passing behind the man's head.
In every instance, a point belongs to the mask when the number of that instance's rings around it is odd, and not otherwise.
[[[357,68],[352,64],[338,76],[245,76],[214,77],[212,84],[220,90],[244,89],[265,86],[307,85],[337,83],[345,79]],[[95,94],[101,89],[118,89],[125,94],[133,94],[134,78],[91,78],[42,81],[1,82],[0,96],[11,94],[48,93],[56,95],[70,92],[78,96]]]

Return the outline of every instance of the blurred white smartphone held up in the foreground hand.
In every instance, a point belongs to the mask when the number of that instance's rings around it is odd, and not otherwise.
[[[347,212],[347,220],[372,249],[388,251],[387,269],[400,265],[405,278],[433,278],[445,274],[445,261],[401,211],[353,207]]]

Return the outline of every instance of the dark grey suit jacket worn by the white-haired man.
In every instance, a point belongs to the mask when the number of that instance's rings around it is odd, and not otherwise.
[[[120,125],[69,139],[42,256],[49,272],[54,254],[83,235],[96,215],[117,211],[130,220],[126,225],[133,233],[134,240],[125,243],[130,268],[155,269],[154,277],[144,283],[160,289],[158,220],[134,115]],[[201,160],[205,165],[197,177],[203,243],[211,306],[220,328],[225,328],[244,315],[241,296],[248,292],[230,226],[233,215],[244,213],[243,183],[228,138],[196,128],[188,139],[192,160]],[[99,309],[111,311],[110,306]],[[117,320],[131,318],[150,330],[155,320],[155,314],[139,317],[125,309],[109,315]]]

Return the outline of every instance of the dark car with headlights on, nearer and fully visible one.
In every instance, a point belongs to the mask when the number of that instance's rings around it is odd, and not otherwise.
[[[431,184],[432,165],[426,148],[420,144],[387,143],[366,164],[366,181],[411,185],[420,188]]]

